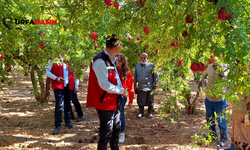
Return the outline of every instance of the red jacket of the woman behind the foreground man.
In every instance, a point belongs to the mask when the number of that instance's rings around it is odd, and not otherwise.
[[[122,82],[122,87],[128,91],[128,96],[129,96],[129,104],[133,103],[133,99],[134,99],[134,80],[133,80],[133,75],[131,73],[131,71],[128,71],[127,73],[127,78],[124,80],[122,78],[122,71],[119,70],[119,75],[120,75],[120,79]]]

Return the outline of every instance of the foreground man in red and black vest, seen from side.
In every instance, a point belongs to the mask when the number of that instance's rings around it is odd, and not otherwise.
[[[119,38],[112,34],[106,38],[106,48],[90,64],[86,107],[96,108],[99,117],[98,150],[106,150],[109,141],[111,150],[119,150],[121,94],[128,94],[115,66],[120,49]]]

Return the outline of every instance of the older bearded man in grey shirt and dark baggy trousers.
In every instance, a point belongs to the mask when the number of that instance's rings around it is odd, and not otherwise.
[[[144,106],[148,106],[148,118],[152,118],[154,108],[154,94],[152,94],[152,91],[157,87],[158,75],[154,72],[155,65],[148,62],[148,55],[146,53],[142,53],[140,59],[141,62],[135,66],[134,73],[134,89],[137,91],[137,103],[140,109],[137,117],[143,117]],[[136,85],[137,82],[138,87]]]

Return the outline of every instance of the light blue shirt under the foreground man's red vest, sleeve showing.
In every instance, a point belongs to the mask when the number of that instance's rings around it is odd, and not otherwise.
[[[98,80],[98,84],[104,91],[107,91],[108,93],[123,94],[124,89],[122,87],[121,80],[115,66],[115,57],[112,57],[106,50],[104,50],[104,52],[110,57],[112,64],[114,65],[117,85],[114,85],[108,81],[107,66],[102,59],[97,59],[92,65],[92,68]]]

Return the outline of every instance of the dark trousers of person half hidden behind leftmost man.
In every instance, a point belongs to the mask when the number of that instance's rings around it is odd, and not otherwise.
[[[74,106],[75,106],[75,110],[76,110],[76,113],[77,113],[77,116],[78,117],[83,117],[83,112],[82,112],[82,107],[81,107],[81,104],[79,103],[78,101],[78,98],[77,98],[77,93],[75,93],[75,90],[72,90],[70,91],[70,99],[72,100]],[[71,114],[71,117],[74,118],[74,113],[72,112],[72,107],[70,105],[70,114]]]

